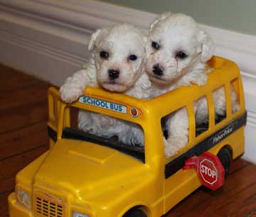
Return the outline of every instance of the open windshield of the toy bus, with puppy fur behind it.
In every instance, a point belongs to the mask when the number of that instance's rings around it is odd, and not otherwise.
[[[63,128],[62,138],[114,148],[144,162],[144,133],[137,123],[73,106],[66,109],[70,113],[70,127]],[[142,143],[134,140],[138,132],[142,133]]]

